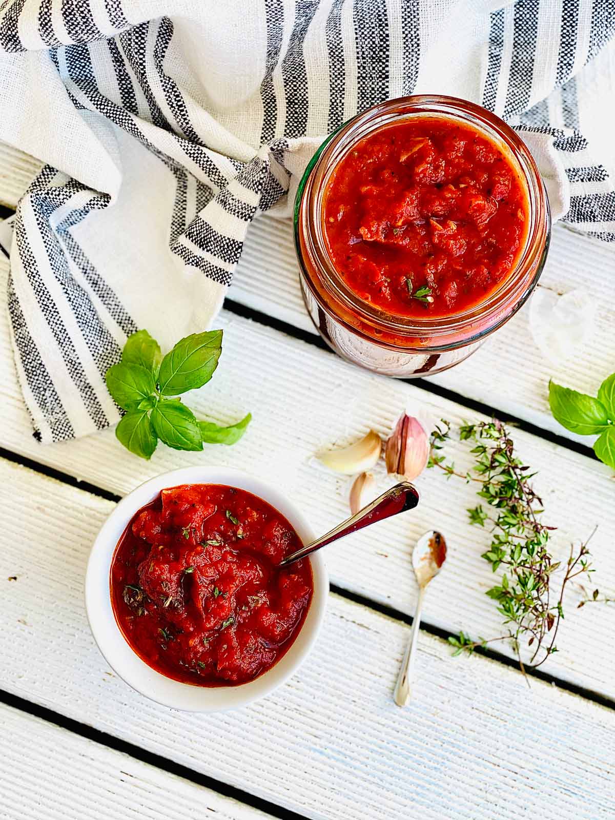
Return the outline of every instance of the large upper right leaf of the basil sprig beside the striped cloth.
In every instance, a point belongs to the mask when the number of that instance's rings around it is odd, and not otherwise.
[[[222,349],[222,331],[193,333],[175,344],[162,359],[158,382],[164,396],[202,387],[212,378]]]

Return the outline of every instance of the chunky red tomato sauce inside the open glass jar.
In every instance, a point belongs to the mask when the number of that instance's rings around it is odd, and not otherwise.
[[[323,210],[348,288],[403,317],[480,303],[515,266],[527,221],[512,160],[471,126],[443,118],[362,139],[334,169]]]

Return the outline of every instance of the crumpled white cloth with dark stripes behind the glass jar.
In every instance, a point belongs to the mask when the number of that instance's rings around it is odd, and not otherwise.
[[[613,0],[0,0],[0,139],[48,163],[7,294],[35,435],[117,421],[104,374],[126,336],[209,325],[253,216],[288,213],[321,139],[385,98],[499,113],[554,215],[615,239],[608,162],[583,135],[613,34]]]

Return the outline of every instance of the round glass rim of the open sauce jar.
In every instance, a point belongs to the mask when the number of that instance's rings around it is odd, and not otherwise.
[[[505,148],[509,161],[514,164],[526,188],[530,224],[526,231],[524,247],[512,271],[509,271],[508,276],[499,287],[480,303],[447,316],[404,317],[390,314],[354,294],[330,259],[321,225],[322,197],[326,189],[326,182],[335,166],[341,162],[353,145],[365,139],[367,135],[412,116],[446,117],[483,131],[490,141]],[[549,233],[549,200],[540,171],[521,137],[499,116],[484,107],[460,98],[438,94],[421,94],[387,100],[346,121],[324,140],[308,163],[299,182],[294,204],[294,236],[297,255],[307,287],[317,302],[322,303],[323,298],[318,289],[313,286],[312,276],[303,259],[302,239],[303,242],[307,240],[307,253],[312,257],[312,265],[317,268],[321,277],[321,285],[327,294],[357,316],[363,325],[374,328],[376,335],[380,335],[379,331],[385,331],[410,338],[424,339],[429,336],[435,344],[427,347],[421,345],[424,350],[458,346],[458,343],[446,344],[444,337],[451,334],[463,334],[464,331],[467,331],[468,335],[464,335],[462,344],[470,344],[471,341],[480,339],[495,330],[503,324],[503,321],[507,321],[512,313],[525,303],[540,277],[549,245]],[[538,265],[535,265],[536,257],[539,257]],[[533,275],[528,277],[528,273],[532,274],[532,272]],[[499,314],[503,306],[511,301],[515,303],[514,308],[506,312],[506,315],[499,321]],[[330,304],[321,304],[321,307],[331,311]],[[335,317],[344,324],[346,323],[343,317],[337,314]],[[493,319],[492,322],[489,321],[490,318]],[[478,322],[481,324],[480,329],[476,328]],[[441,337],[440,340],[444,344],[438,344],[438,337]],[[373,340],[377,341],[377,339]]]

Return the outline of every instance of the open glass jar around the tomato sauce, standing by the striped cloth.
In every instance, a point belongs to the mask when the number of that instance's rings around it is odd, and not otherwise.
[[[445,317],[397,316],[363,300],[335,270],[326,244],[324,196],[335,166],[368,134],[411,117],[460,121],[484,134],[505,153],[526,188],[529,224],[513,270],[480,303]],[[550,230],[544,184],[518,134],[481,106],[435,95],[389,100],[342,125],[312,157],[294,205],[303,298],[317,330],[348,361],[399,378],[426,376],[462,362],[508,321],[540,277]]]

